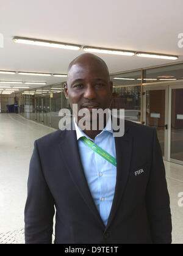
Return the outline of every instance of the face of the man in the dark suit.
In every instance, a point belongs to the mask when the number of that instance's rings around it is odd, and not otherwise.
[[[112,82],[109,73],[101,62],[78,62],[68,72],[67,86],[65,85],[65,97],[71,108],[77,104],[78,111],[87,108],[106,109],[112,101]]]

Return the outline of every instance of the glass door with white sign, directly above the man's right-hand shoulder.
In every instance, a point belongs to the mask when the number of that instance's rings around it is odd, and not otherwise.
[[[143,124],[156,128],[163,159],[168,159],[168,86],[143,87]]]

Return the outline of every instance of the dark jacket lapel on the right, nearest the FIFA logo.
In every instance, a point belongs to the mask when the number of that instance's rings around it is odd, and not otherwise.
[[[106,229],[108,229],[117,212],[117,208],[120,204],[120,200],[123,196],[123,192],[127,183],[127,178],[131,165],[132,137],[129,136],[129,134],[127,133],[128,127],[126,123],[125,125],[126,131],[124,133],[124,136],[115,137],[115,148],[117,155],[117,182]]]

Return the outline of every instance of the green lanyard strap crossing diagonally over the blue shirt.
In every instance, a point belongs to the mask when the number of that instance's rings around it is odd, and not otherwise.
[[[82,142],[84,142],[88,147],[90,147],[94,152],[98,153],[98,155],[102,156],[102,158],[106,159],[109,163],[113,164],[113,166],[117,166],[117,161],[113,158],[112,155],[102,150],[102,148],[98,147],[95,143],[87,139],[87,137],[83,136],[80,138]]]

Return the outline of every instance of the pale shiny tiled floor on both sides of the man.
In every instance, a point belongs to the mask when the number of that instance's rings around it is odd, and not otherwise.
[[[24,205],[34,141],[55,131],[16,114],[0,114],[0,244],[24,243]],[[173,243],[183,244],[183,166],[165,162]],[[182,196],[183,197],[183,196]]]

